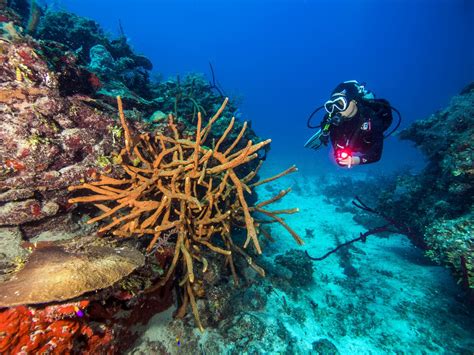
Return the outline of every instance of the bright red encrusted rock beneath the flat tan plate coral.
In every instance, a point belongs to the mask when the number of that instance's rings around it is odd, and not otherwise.
[[[116,354],[145,324],[172,302],[170,285],[131,299],[122,291],[95,300],[0,309],[0,352]]]

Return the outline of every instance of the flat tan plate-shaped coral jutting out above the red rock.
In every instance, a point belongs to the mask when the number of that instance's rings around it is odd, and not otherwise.
[[[36,248],[23,268],[1,283],[0,308],[70,300],[110,287],[145,263],[136,249],[82,239]]]

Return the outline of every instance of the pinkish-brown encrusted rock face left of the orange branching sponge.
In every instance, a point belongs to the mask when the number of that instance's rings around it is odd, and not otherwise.
[[[106,169],[96,162],[114,149],[114,121],[87,97],[64,97],[31,44],[1,41],[0,57],[0,233],[67,235],[79,228],[66,218],[67,187]]]

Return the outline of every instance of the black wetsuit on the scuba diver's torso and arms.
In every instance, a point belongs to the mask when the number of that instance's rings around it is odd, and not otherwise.
[[[357,108],[354,117],[339,125],[331,125],[329,137],[334,155],[336,157],[340,149],[350,149],[353,153],[358,153],[355,155],[360,157],[360,164],[374,163],[382,155],[383,132],[392,122],[392,111],[390,106],[364,102],[359,102]],[[323,122],[326,119],[327,116]]]

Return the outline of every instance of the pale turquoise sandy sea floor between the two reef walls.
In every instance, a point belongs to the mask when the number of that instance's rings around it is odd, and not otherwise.
[[[262,169],[261,176],[279,171]],[[272,235],[277,241],[264,251],[268,261],[273,262],[276,255],[292,248],[320,256],[365,231],[354,222],[352,214],[337,212],[336,206],[325,202],[320,181],[300,171],[274,181],[269,184],[271,187],[259,187],[259,200],[265,200],[291,186],[293,191],[272,205],[272,209],[298,207],[298,214],[285,216],[287,223],[302,237],[306,229],[314,230],[314,236],[306,238],[305,245],[299,247],[283,228],[273,227]],[[298,290],[297,299],[276,288],[265,309],[253,312],[252,316],[264,322],[267,329],[261,344],[256,344],[262,353],[285,353],[287,344],[274,334],[282,326],[295,343],[294,352],[301,354],[318,353],[313,350],[317,341],[324,345],[319,348],[321,354],[330,354],[334,347],[341,354],[474,351],[474,319],[460,302],[460,289],[448,270],[430,263],[404,236],[370,236],[366,243],[354,244],[323,261],[315,261],[313,277],[313,283]],[[286,307],[281,302],[283,296]],[[130,354],[160,353],[164,349],[168,353],[183,353],[178,341],[181,345],[186,339],[179,339],[169,327],[172,312],[170,309],[152,318]],[[209,339],[215,342],[219,338],[219,329],[206,329],[199,342],[205,344]],[[162,344],[161,350],[149,348],[154,342]],[[216,352],[223,349],[237,353],[232,344],[221,344]],[[198,349],[195,353],[199,353]]]

